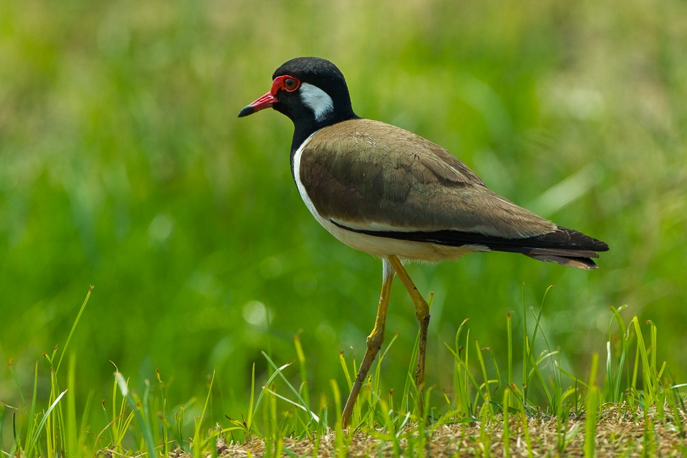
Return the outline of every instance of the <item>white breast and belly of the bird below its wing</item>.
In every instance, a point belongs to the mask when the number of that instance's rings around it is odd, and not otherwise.
[[[319,90],[319,89],[318,89]],[[473,251],[490,251],[487,247],[482,245],[466,246],[466,247],[447,247],[446,245],[433,244],[427,242],[411,242],[408,240],[398,240],[393,238],[384,238],[370,236],[364,233],[358,233],[354,231],[348,231],[337,225],[335,225],[331,220],[323,218],[319,214],[315,204],[311,201],[311,198],[306,192],[305,186],[300,178],[300,162],[303,154],[304,148],[307,146],[310,139],[315,133],[311,134],[310,137],[306,138],[301,146],[293,154],[293,177],[296,182],[296,187],[298,192],[303,199],[306,207],[310,210],[311,214],[315,217],[317,222],[319,222],[324,229],[327,229],[329,233],[339,239],[341,242],[347,244],[353,249],[359,251],[364,251],[365,253],[370,253],[371,255],[378,256],[381,258],[389,257],[390,255],[396,255],[402,260],[420,260],[429,262],[439,262],[442,260],[453,260],[466,253],[471,253]],[[337,220],[337,223],[346,227],[353,227],[355,229],[362,229],[360,225],[352,224],[344,220]],[[379,229],[386,229],[387,225],[379,222],[370,222],[370,224],[365,228],[369,229],[371,227],[379,227]],[[403,229],[412,231],[411,228],[398,228],[395,227],[391,230]],[[374,229],[373,229],[374,230]]]

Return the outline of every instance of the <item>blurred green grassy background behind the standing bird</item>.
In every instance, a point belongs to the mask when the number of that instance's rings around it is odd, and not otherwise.
[[[381,262],[302,204],[289,119],[236,118],[276,67],[311,55],[341,68],[359,115],[436,141],[496,192],[611,246],[594,272],[502,253],[410,266],[436,292],[438,393],[463,319],[504,361],[506,312],[521,339],[522,297],[537,307],[549,285],[543,330],[567,369],[605,358],[608,306],[628,304],[685,382],[685,43],[677,0],[3,1],[0,360],[27,396],[92,284],[70,343],[78,400],[111,393],[110,361],[135,387],[159,369],[176,402],[204,396],[216,369],[213,415],[236,418],[260,351],[293,360],[300,330],[313,393],[343,387],[339,351],[364,352]],[[388,388],[403,387],[416,330],[396,284]],[[0,400],[19,404],[3,367]]]

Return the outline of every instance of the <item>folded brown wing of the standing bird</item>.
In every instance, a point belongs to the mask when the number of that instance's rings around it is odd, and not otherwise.
[[[300,180],[319,214],[361,231],[528,238],[556,225],[499,196],[451,153],[401,128],[352,119],[319,130]]]

